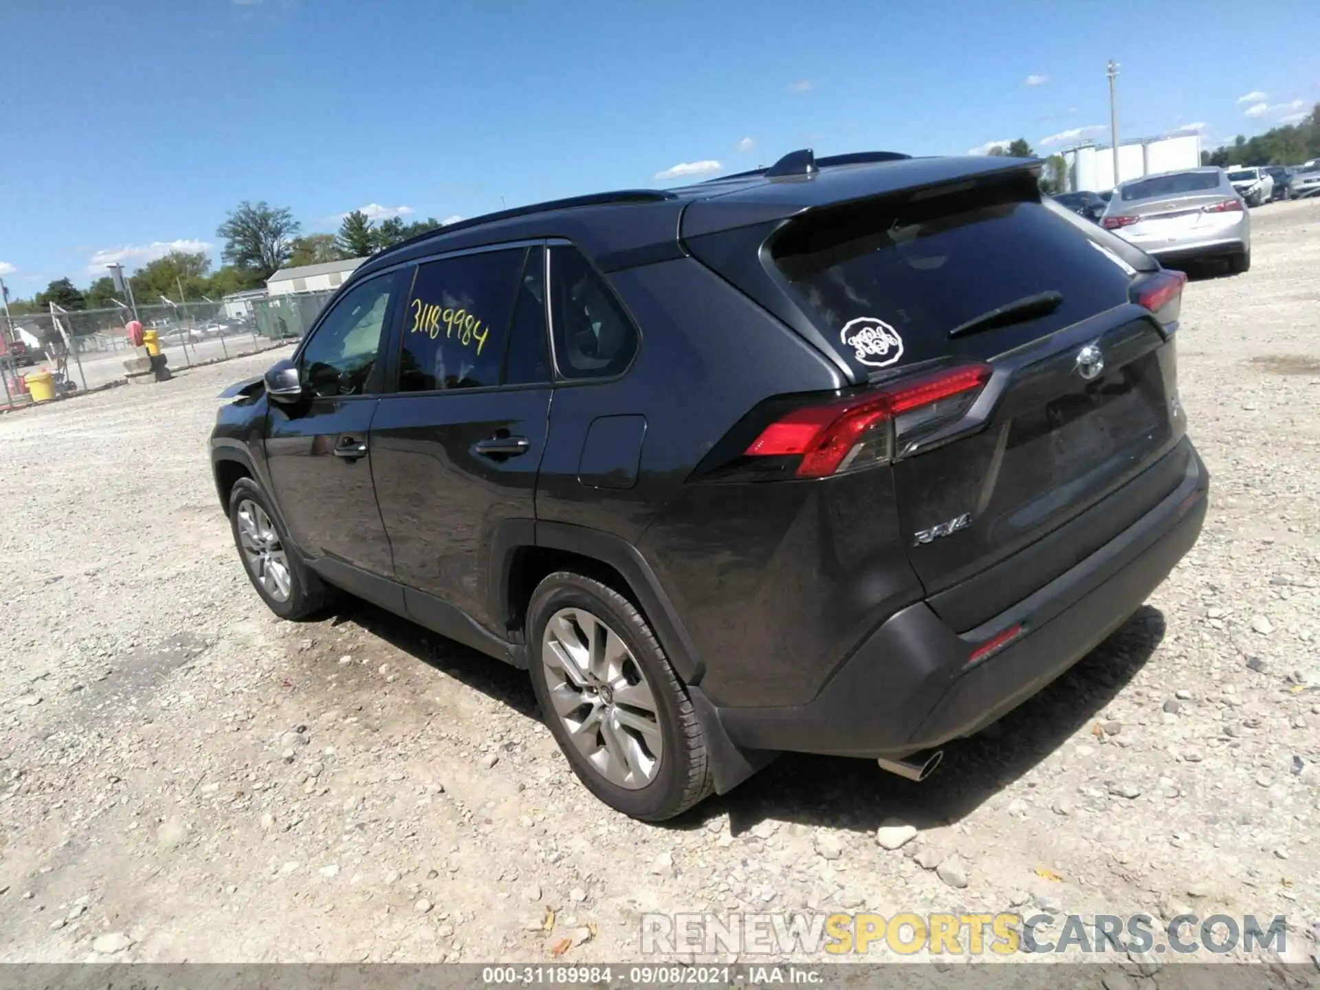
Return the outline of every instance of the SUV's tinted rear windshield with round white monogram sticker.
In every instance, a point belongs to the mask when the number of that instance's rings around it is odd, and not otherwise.
[[[1039,293],[1064,301],[1032,337],[1067,326],[1125,302],[1135,269],[1154,267],[1057,203],[978,191],[808,214],[771,255],[840,354],[870,368],[961,351],[973,338],[949,330]]]

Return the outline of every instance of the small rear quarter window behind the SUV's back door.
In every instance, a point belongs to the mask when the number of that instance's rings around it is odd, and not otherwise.
[[[579,251],[550,248],[554,360],[568,379],[610,378],[628,367],[638,331],[605,280]]]

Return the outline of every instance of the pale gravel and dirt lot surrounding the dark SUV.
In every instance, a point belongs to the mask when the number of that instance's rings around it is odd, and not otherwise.
[[[281,352],[0,417],[0,961],[618,961],[644,912],[1036,908],[1286,915],[1305,960],[1320,201],[1253,219],[1251,272],[1185,293],[1213,504],[1150,603],[925,784],[792,756],[663,828],[576,783],[524,675],[267,612],[205,445]]]

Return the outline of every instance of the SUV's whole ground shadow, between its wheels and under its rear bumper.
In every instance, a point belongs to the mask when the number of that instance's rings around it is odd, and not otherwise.
[[[519,714],[541,718],[525,671],[367,602],[348,599],[335,622],[354,622]],[[920,829],[957,822],[1065,739],[1096,725],[1163,638],[1163,612],[1142,606],[1039,694],[970,739],[945,746],[940,770],[923,783],[887,774],[874,760],[785,754],[730,793],[711,796],[661,828],[705,828],[719,814],[729,816],[735,836],[766,820],[858,832],[871,832],[891,816]]]

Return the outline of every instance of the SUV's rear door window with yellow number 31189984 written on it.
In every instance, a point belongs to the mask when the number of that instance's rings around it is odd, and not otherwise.
[[[527,248],[417,267],[404,305],[400,392],[500,384],[510,317]]]

